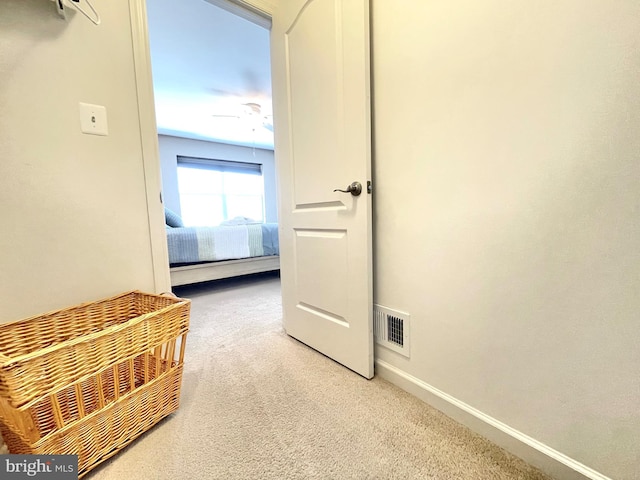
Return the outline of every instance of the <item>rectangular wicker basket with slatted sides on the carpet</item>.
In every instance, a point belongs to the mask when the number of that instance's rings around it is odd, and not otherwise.
[[[77,454],[82,477],[174,412],[189,310],[135,291],[0,325],[9,451]]]

